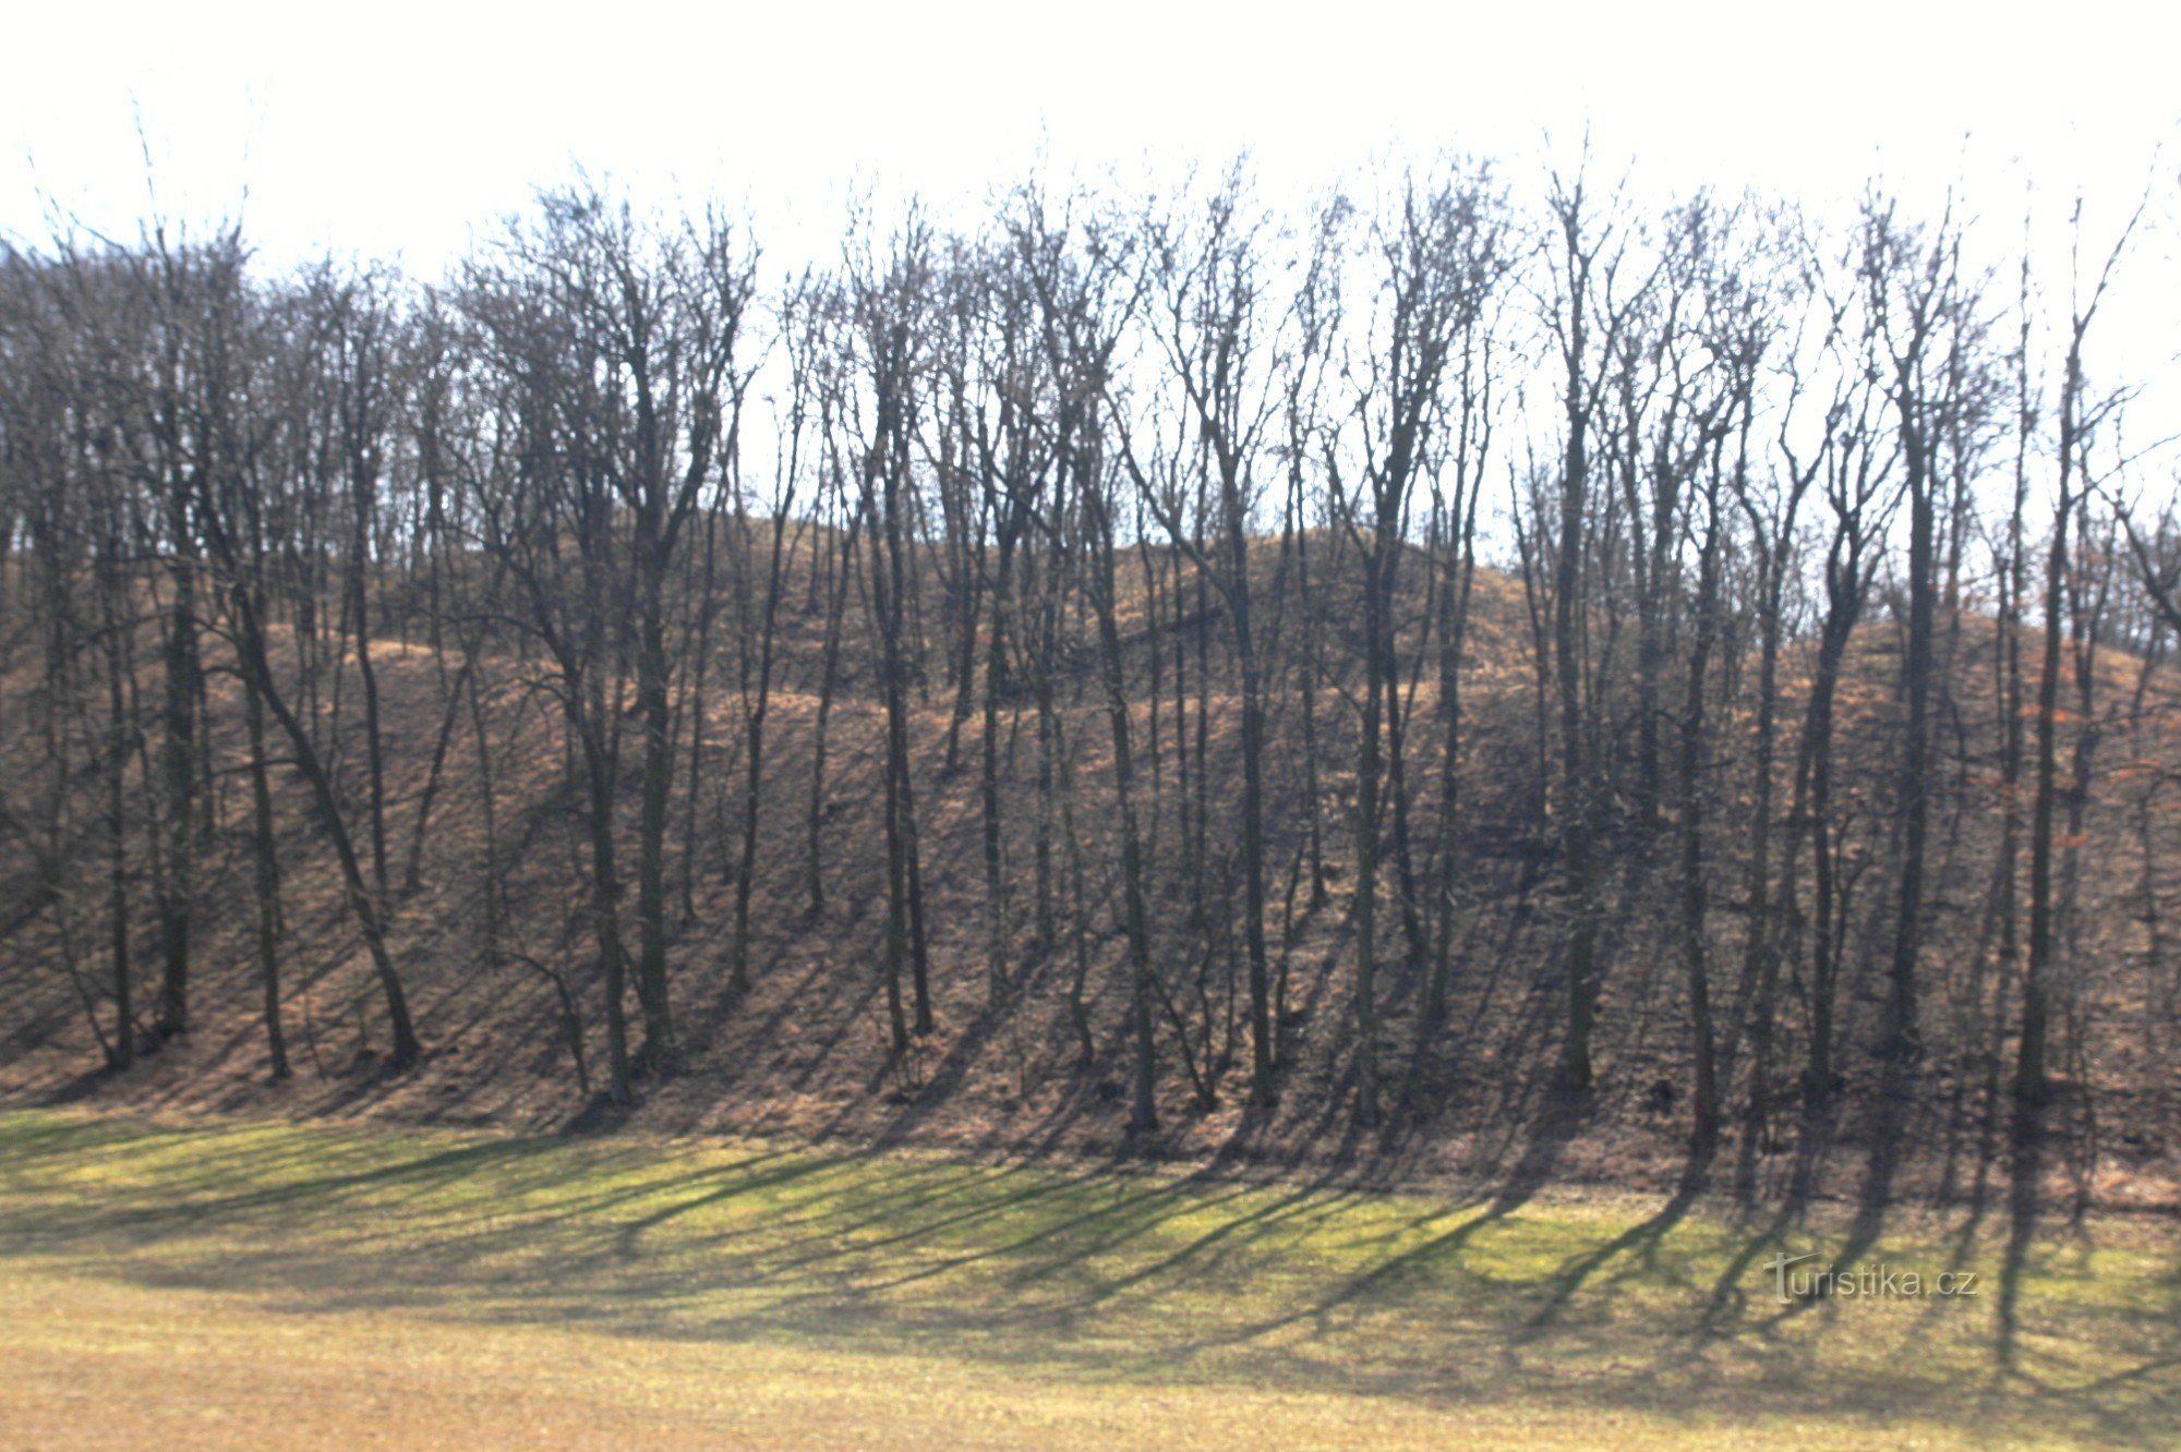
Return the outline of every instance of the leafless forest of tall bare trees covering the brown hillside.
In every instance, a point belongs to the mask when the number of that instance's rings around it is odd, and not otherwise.
[[[55,227],[0,1084],[2170,1201],[2150,233],[2022,231],[1596,164],[800,273],[591,183],[434,281]]]

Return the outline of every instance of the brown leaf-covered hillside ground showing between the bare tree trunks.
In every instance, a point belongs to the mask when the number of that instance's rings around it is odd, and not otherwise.
[[[947,689],[933,689],[912,711],[933,1025],[896,1051],[883,992],[885,715],[870,680],[868,641],[851,637],[855,648],[842,652],[833,671],[838,700],[827,715],[824,772],[818,772],[818,691],[831,678],[820,597],[816,586],[798,586],[783,602],[781,678],[766,717],[759,842],[750,857],[746,990],[735,988],[731,972],[748,781],[744,702],[722,685],[711,689],[702,713],[689,702],[704,724],[691,735],[707,743],[704,774],[702,785],[676,787],[665,863],[676,898],[667,913],[667,981],[680,1053],[674,1073],[637,1079],[630,1110],[602,1103],[604,959],[595,898],[585,887],[589,848],[565,772],[561,719],[545,709],[545,695],[515,689],[537,663],[513,648],[480,656],[480,669],[497,682],[482,695],[484,726],[471,733],[465,724],[462,733],[475,739],[458,733],[449,746],[445,730],[458,713],[447,709],[447,689],[458,667],[419,639],[382,639],[373,658],[390,811],[388,953],[423,1040],[421,1062],[406,1073],[388,1070],[393,1031],[377,970],[347,905],[323,820],[294,774],[281,770],[273,783],[284,929],[277,970],[292,1077],[275,1079],[246,824],[246,730],[231,671],[216,671],[207,680],[207,831],[190,881],[188,1033],[153,1029],[164,964],[153,911],[159,874],[148,852],[157,833],[137,822],[146,831],[131,833],[126,872],[137,1057],[126,1073],[107,1068],[118,1018],[109,822],[105,798],[79,772],[81,781],[68,787],[72,804],[57,818],[59,846],[37,833],[0,831],[0,1105],[76,1105],[116,1116],[371,1118],[508,1134],[622,1127],[820,1151],[1027,1158],[1058,1173],[1123,1164],[1289,1179],[1370,1175],[1381,1188],[1411,1190],[1549,1179],[1568,1188],[1675,1193],[1690,1140],[1695,1036],[1679,844],[1658,824],[1638,828],[1618,820],[1614,828],[1596,942],[1599,1084],[1575,1116],[1557,1103],[1570,920],[1564,874],[1551,844],[1533,831],[1544,776],[1520,582],[1492,571],[1477,582],[1459,757],[1468,826],[1444,846],[1459,861],[1446,940],[1411,946],[1398,909],[1405,894],[1394,890],[1398,866],[1381,883],[1387,896],[1374,1044],[1387,1103],[1376,1127],[1363,1127],[1357,1112],[1354,713],[1337,700],[1354,695],[1357,641],[1352,621],[1330,604],[1354,597],[1348,584],[1328,584],[1315,606],[1330,658],[1317,754],[1298,739],[1296,717],[1280,715],[1287,726],[1274,733],[1276,750],[1267,757],[1267,1016],[1278,1066],[1269,1108],[1250,1105],[1248,1084],[1245,894],[1234,848],[1243,781],[1239,695],[1217,667],[1204,667],[1204,658],[1217,656],[1217,634],[1197,639],[1171,613],[1154,619],[1141,589],[1130,595],[1128,678],[1143,687],[1134,722],[1145,746],[1149,951],[1165,990],[1156,1023],[1156,1132],[1130,1123],[1136,1049],[1121,927],[1125,885],[1110,746],[1104,746],[1110,728],[1097,704],[1101,687],[1086,665],[1090,656],[1069,656],[1056,706],[1077,781],[1071,800],[1080,879],[1069,870],[1069,833],[1053,824],[1060,813],[1038,785],[1036,711],[1010,698],[1003,713],[1008,868],[997,903],[1005,992],[995,992],[990,961],[995,896],[984,857],[979,722],[968,719],[955,733]],[[1424,604],[1418,591],[1402,608],[1422,617]],[[382,619],[397,617],[382,610]],[[1884,1188],[1891,1199],[1954,1206],[1963,1214],[2004,1212],[2017,1169],[2007,1149],[2007,1081],[2017,1053],[2020,1014],[2011,994],[2020,953],[2009,957],[2002,942],[2009,916],[1996,898],[2004,796],[1996,757],[2002,713],[1991,695],[1998,637],[1989,621],[1963,617],[1948,639],[1959,652],[1948,698],[1954,748],[1928,863],[1930,924],[1919,966],[1926,1038],[1906,1092],[1891,1081],[1880,1053],[1895,933],[1891,890],[1880,879],[1891,874],[1889,802],[1900,791],[1893,624],[1867,628],[1843,682],[1836,787],[1843,822],[1852,822],[1843,861],[1860,866],[1836,890],[1843,911],[1836,933],[1847,944],[1834,983],[1839,1084],[1830,1112],[1817,1118],[1804,1114],[1812,1051],[1812,959],[1804,929],[1793,929],[1802,946],[1778,964],[1780,981],[1764,990],[1767,1001],[1778,999],[1780,1023],[1762,1079],[1751,1064],[1756,1055],[1747,1053],[1749,994],[1762,959],[1749,955],[1751,942],[1760,942],[1751,933],[1758,913],[1745,876],[1751,783],[1736,776],[1740,767],[1719,781],[1710,813],[1716,831],[1708,961],[1721,1044],[1734,1049],[1727,1077],[1734,1112],[1712,1171],[1714,1184],[1732,1186],[1749,1203],[1825,1199],[1854,1214],[1867,1197],[1867,1166],[1884,1153],[1893,1160]],[[1210,691],[1182,717],[1173,691],[1149,685],[1176,685],[1169,648],[1189,641],[1202,648],[1191,689],[1208,682]],[[142,656],[150,671],[157,650],[146,643]],[[1152,674],[1154,661],[1167,661],[1167,676]],[[2037,1177],[2048,1206],[2164,1212],[2172,1227],[2181,1217],[2181,955],[2170,929],[2181,922],[2181,794],[2170,783],[2181,781],[2181,680],[2170,669],[2150,680],[2140,661],[2113,650],[2100,661],[2098,700],[2113,711],[2137,698],[2148,706],[2102,728],[2096,789],[2085,800],[2083,831],[2070,837],[2096,848],[2072,874],[2061,874],[2081,894],[2068,916],[2061,975],[2065,1033],[2057,1066],[2070,1092],[2055,1101],[2050,1129],[2059,1142]],[[1782,665],[1782,719],[1802,719],[1806,665],[1804,654]],[[1424,844],[1415,866],[1429,883],[1431,852],[1442,850],[1439,757],[1429,746],[1437,711],[1433,671],[1409,685],[1407,789],[1415,809],[1411,831]],[[327,702],[334,687],[325,682]],[[0,818],[44,811],[26,802],[44,800],[52,761],[28,730],[37,715],[22,706],[39,689],[26,671],[0,680],[0,695],[17,702],[9,715],[13,733],[0,733]],[[155,678],[140,687],[146,700],[157,689]],[[1278,706],[1296,709],[1291,698]],[[327,704],[323,724],[327,741],[338,746],[353,822],[362,824],[371,794],[353,715],[351,706],[349,717],[336,719]],[[1197,746],[1184,767],[1182,741],[1191,735]],[[641,776],[635,746],[628,752],[624,807],[632,820]],[[1745,759],[1745,746],[1730,757]],[[486,759],[495,763],[491,772],[482,770]],[[436,794],[427,791],[432,763],[445,767]],[[1791,765],[1793,748],[1782,739],[1780,813],[1793,800]],[[1315,796],[1306,781],[1313,770]],[[486,798],[495,804],[491,813]],[[425,800],[434,802],[430,813]],[[1317,802],[1322,828],[1322,894],[1313,892],[1306,868],[1309,802]],[[1053,837],[1051,870],[1043,874],[1040,831]],[[1775,833],[1775,839],[1784,852],[1786,837]],[[632,837],[624,846],[632,859]],[[1849,894],[1852,881],[1860,887]],[[1791,918],[1808,911],[1808,894],[1793,900],[1802,907]],[[1767,911],[1784,909],[1775,903]],[[1431,927],[1418,920],[1418,942]],[[632,944],[635,924],[626,929]],[[1775,929],[1788,931],[1775,922],[1762,942]],[[1433,1018],[1426,1003],[1437,966],[1446,972],[1446,1012]],[[637,1005],[630,999],[626,1007]],[[643,1042],[641,1031],[632,1038]],[[1767,1108],[1760,1125],[1745,1116],[1751,1101]],[[1555,1116],[1566,1132],[1540,1138],[1535,1127]]]

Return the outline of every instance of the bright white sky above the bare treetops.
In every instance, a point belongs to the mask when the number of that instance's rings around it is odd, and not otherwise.
[[[1823,203],[1871,172],[2142,190],[2181,116],[2159,4],[107,4],[17,7],[0,227],[41,194],[144,211],[135,116],[177,214],[233,211],[270,257],[432,270],[580,161],[639,190],[829,231],[846,187],[938,205],[1064,168],[1160,174],[1248,146],[1269,187],[1400,150],[1636,157],[1655,187]],[[1965,140],[1967,137],[1967,140]],[[779,253],[779,246],[774,246]]]

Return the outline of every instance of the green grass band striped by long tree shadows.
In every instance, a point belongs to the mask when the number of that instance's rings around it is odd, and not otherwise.
[[[626,1336],[790,1336],[1082,1380],[1248,1380],[1405,1397],[2157,1441],[2177,1421],[2181,1284],[2037,1304],[2035,1376],[1963,1374],[1937,1310],[1773,1310],[1793,1214],[1703,1214],[1706,1160],[1638,1219],[1540,1195],[1581,1129],[1549,1101],[1457,1197],[938,1155],[332,1127],[0,1116],[0,1256],[270,1297],[563,1321]],[[1863,1241],[1849,1227],[1849,1245]],[[1908,1245],[1915,1254],[1921,1245]],[[2026,1251],[2024,1251],[2026,1256]],[[2072,1341],[2055,1347],[2052,1336]],[[1891,1350],[1865,1347],[1891,1336]],[[1924,1354],[1930,1352],[1930,1354]],[[1985,1363],[1989,1365],[1989,1345]]]

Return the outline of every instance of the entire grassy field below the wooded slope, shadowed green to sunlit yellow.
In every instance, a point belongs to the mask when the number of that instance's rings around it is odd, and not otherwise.
[[[1780,1256],[1924,1293],[1782,1299]],[[4,1110],[0,1304],[28,1448],[2181,1437],[2129,1214]]]

